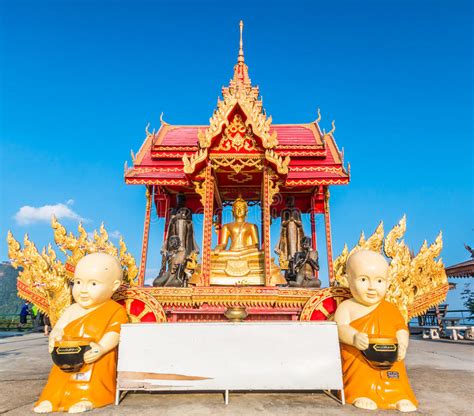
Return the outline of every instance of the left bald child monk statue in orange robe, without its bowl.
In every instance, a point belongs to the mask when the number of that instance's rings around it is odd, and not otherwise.
[[[127,313],[111,300],[122,281],[119,261],[105,253],[83,257],[76,265],[72,295],[76,303],[59,318],[49,336],[49,352],[63,339],[90,339],[79,372],[53,365],[34,408],[36,413],[80,413],[114,402],[120,325]]]

